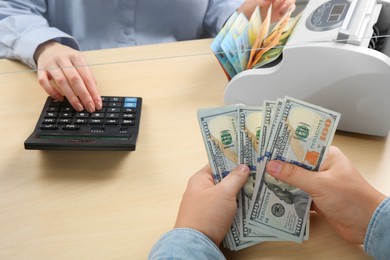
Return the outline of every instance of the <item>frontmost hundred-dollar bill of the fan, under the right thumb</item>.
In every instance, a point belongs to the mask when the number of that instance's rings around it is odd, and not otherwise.
[[[340,114],[290,97],[285,98],[281,111],[267,146],[267,160],[317,171],[331,145]],[[265,171],[265,163],[261,167],[248,223],[254,230],[302,242],[310,196],[273,178]]]

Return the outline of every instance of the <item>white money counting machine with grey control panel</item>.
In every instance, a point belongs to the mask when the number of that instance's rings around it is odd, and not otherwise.
[[[390,0],[310,0],[268,67],[237,74],[227,104],[261,105],[284,95],[342,114],[339,130],[390,129]]]

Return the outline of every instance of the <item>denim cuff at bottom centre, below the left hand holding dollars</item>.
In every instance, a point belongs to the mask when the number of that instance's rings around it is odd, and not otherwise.
[[[153,246],[149,260],[225,259],[218,247],[203,233],[176,228],[164,234]]]

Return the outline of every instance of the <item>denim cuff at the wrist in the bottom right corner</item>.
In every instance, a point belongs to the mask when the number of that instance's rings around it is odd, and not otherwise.
[[[364,250],[377,260],[390,257],[390,197],[375,210],[367,228]]]

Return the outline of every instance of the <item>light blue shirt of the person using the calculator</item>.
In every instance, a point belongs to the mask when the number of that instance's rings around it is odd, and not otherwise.
[[[0,0],[0,58],[36,68],[36,48],[77,50],[215,36],[243,0]]]

